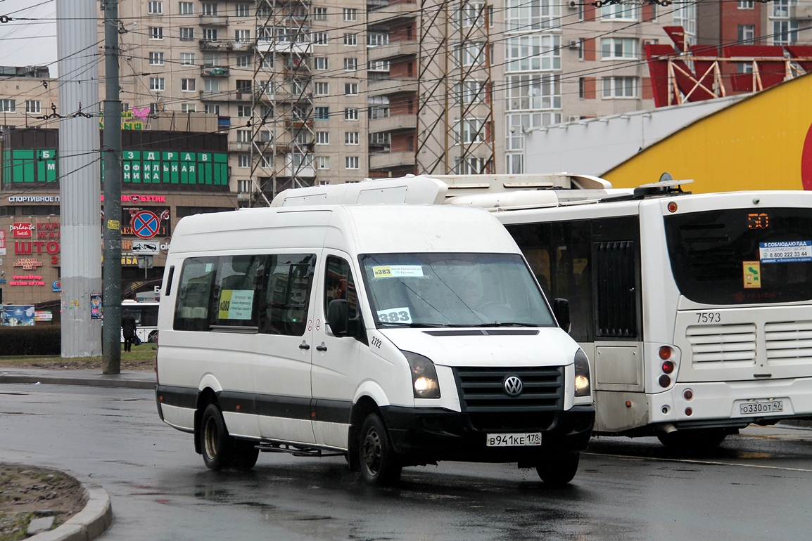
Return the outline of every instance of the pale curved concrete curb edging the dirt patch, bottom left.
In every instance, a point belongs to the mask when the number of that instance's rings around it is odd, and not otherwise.
[[[32,535],[27,539],[35,541],[91,541],[106,532],[113,524],[113,508],[110,505],[110,495],[92,479],[64,471],[76,479],[81,485],[87,503],[84,509],[76,513],[64,524],[54,530]]]

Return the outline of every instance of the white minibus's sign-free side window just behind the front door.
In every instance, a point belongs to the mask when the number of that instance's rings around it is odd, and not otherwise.
[[[267,266],[260,332],[300,337],[307,326],[316,255],[269,255]]]

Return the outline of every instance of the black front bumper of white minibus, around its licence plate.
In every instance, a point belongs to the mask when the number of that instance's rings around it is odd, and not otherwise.
[[[454,460],[465,462],[533,462],[540,457],[583,451],[594,425],[593,406],[573,406],[570,410],[525,415],[535,423],[516,424],[506,416],[488,419],[488,427],[465,412],[443,408],[382,408],[384,422],[395,452],[405,462]],[[511,426],[515,425],[515,426]],[[493,446],[486,444],[493,434],[541,433],[541,445]],[[411,460],[409,460],[411,459]]]

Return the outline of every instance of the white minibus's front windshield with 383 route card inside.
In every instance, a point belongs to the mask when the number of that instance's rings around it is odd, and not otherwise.
[[[553,326],[516,254],[362,255],[378,328]]]

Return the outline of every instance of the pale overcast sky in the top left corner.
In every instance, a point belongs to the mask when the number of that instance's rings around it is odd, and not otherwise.
[[[0,16],[36,19],[0,23],[0,66],[49,64],[50,75],[56,77],[56,1],[0,0]]]

